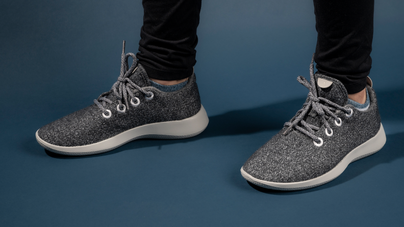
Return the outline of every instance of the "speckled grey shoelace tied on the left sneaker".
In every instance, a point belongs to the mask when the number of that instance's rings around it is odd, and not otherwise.
[[[131,68],[129,68],[129,64],[128,64],[128,58],[129,57],[133,58],[133,63],[132,63]],[[99,109],[102,110],[102,112],[105,115],[110,114],[107,111],[107,109],[105,108],[107,103],[109,103],[109,104],[113,103],[113,101],[111,99],[107,98],[107,95],[109,95],[111,92],[114,92],[115,97],[118,99],[118,103],[119,103],[118,108],[120,110],[122,110],[124,108],[129,109],[128,97],[130,98],[130,100],[135,97],[133,92],[132,92],[133,89],[139,90],[140,92],[142,92],[147,97],[152,96],[152,93],[145,91],[144,89],[142,89],[141,87],[139,87],[138,85],[133,83],[131,81],[131,79],[129,79],[129,76],[133,72],[135,72],[135,70],[137,69],[137,67],[136,67],[137,63],[138,63],[138,61],[136,59],[135,54],[128,53],[128,54],[125,55],[125,41],[123,41],[122,55],[121,55],[121,70],[120,70],[120,75],[118,77],[118,80],[117,80],[117,82],[114,83],[114,85],[112,86],[110,91],[104,92],[97,99],[94,99],[94,103],[99,107]],[[123,107],[122,98],[124,100],[125,107]],[[139,100],[137,100],[137,102],[139,102]]]

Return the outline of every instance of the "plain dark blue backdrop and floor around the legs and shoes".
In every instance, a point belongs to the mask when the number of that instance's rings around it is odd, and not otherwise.
[[[376,0],[373,67],[387,143],[323,186],[277,192],[240,167],[304,102],[316,44],[307,1],[206,0],[195,72],[207,130],[64,157],[35,140],[137,52],[141,1],[0,2],[2,226],[393,226],[404,221],[403,1]]]

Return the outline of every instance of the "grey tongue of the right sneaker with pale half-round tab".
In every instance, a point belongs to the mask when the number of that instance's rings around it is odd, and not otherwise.
[[[314,77],[319,97],[326,98],[340,106],[345,106],[348,100],[348,93],[345,86],[339,80],[317,73]]]

